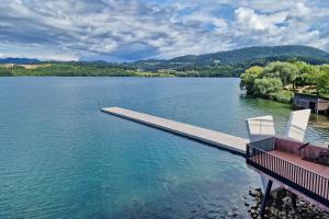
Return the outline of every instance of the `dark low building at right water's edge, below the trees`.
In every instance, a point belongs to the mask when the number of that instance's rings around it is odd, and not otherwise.
[[[293,107],[310,108],[317,114],[329,114],[329,99],[313,94],[295,93]]]

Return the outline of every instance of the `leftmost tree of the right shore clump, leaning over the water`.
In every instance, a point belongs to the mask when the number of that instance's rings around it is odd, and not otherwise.
[[[256,79],[262,77],[263,68],[259,66],[250,67],[241,74],[240,88],[247,90],[247,94],[252,94],[252,88]]]

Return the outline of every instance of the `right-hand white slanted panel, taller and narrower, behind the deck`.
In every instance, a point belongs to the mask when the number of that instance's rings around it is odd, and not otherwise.
[[[284,137],[291,140],[303,141],[309,115],[310,110],[292,112]]]

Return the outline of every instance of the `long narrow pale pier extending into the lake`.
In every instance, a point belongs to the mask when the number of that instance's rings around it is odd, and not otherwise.
[[[246,145],[249,142],[247,139],[230,136],[224,132],[192,126],[144,113],[138,113],[121,107],[107,107],[101,110],[122,118],[134,120],[144,125],[148,125],[158,129],[162,129],[175,135],[206,143],[218,149],[227,150],[229,152],[246,155]]]

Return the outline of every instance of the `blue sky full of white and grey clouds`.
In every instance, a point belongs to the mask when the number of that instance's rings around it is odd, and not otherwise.
[[[0,58],[169,59],[249,46],[329,51],[328,0],[1,0]]]

